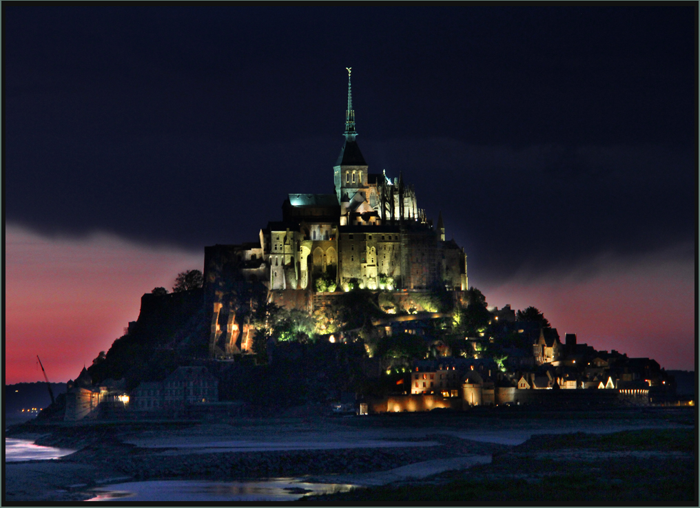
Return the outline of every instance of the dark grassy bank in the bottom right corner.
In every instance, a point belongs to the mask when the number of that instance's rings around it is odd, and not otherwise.
[[[374,505],[697,505],[694,429],[539,435],[493,463],[304,502]]]

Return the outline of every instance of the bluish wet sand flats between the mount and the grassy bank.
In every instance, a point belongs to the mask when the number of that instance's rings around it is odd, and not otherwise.
[[[135,479],[271,478],[384,485],[491,460],[533,435],[688,428],[684,412],[244,418],[216,424],[41,428],[41,444],[76,448],[58,460],[6,463],[6,502],[91,498]],[[46,431],[50,431],[47,435]],[[27,431],[22,437],[27,436]],[[12,435],[10,437],[20,437]],[[279,474],[279,473],[284,474]]]

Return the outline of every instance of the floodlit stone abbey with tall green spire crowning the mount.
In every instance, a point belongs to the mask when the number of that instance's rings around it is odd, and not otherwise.
[[[465,253],[445,241],[442,214],[433,227],[401,175],[370,173],[356,141],[350,69],[344,135],[333,165],[335,194],[290,194],[282,220],[260,230],[259,241],[205,248],[204,281],[215,314],[225,308],[223,287],[233,281],[260,281],[276,302],[309,311],[309,295],[319,291],[468,288]]]

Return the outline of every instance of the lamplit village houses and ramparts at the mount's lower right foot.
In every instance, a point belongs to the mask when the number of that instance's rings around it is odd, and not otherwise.
[[[517,322],[514,316],[500,332],[509,329],[520,336],[520,345],[500,348],[500,353],[512,353],[512,357],[500,355],[505,356],[500,365],[491,358],[479,358],[477,353],[473,358],[416,360],[407,380],[410,390],[365,401],[363,411],[461,410],[501,404],[647,405],[673,393],[673,377],[650,358],[596,351],[587,344],[577,344],[575,334],[566,334],[562,343],[556,329]],[[496,332],[498,335],[498,328]],[[475,351],[482,351],[478,344],[488,347],[499,338],[468,340],[475,344]]]

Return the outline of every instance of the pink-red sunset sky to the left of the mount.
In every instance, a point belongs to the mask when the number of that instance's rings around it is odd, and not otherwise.
[[[108,234],[47,238],[5,230],[5,383],[75,379],[139,316],[141,295],[171,290],[203,254],[138,246]]]

